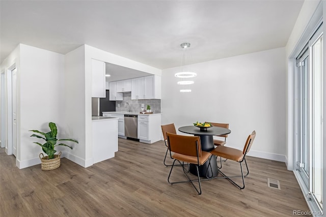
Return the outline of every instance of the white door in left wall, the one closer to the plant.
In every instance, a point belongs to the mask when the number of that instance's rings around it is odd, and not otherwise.
[[[12,153],[15,156],[17,156],[16,72],[16,69],[12,70]]]

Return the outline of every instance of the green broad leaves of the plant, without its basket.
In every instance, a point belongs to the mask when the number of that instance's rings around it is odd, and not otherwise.
[[[55,147],[58,146],[58,145],[66,146],[66,147],[69,147],[70,149],[72,149],[71,146],[68,146],[66,144],[63,144],[63,143],[57,144],[57,141],[71,141],[71,142],[74,142],[74,143],[78,143],[78,141],[73,140],[73,139],[60,139],[60,140],[58,140],[57,139],[57,133],[58,133],[57,125],[55,123],[53,123],[53,122],[50,122],[49,127],[50,127],[51,131],[46,132],[46,133],[41,132],[39,130],[29,130],[29,131],[33,131],[33,132],[39,133],[39,134],[44,136],[44,137],[42,137],[41,135],[37,135],[37,134],[32,134],[31,135],[31,137],[37,137],[37,138],[45,140],[45,143],[43,145],[41,143],[38,143],[38,142],[34,142],[34,143],[38,144],[39,146],[42,147],[42,150],[49,156],[49,159],[55,158],[55,153],[57,152],[55,150]]]

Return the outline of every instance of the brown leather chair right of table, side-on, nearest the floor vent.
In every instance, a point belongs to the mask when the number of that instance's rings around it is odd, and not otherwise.
[[[246,155],[249,152],[254,140],[256,137],[256,131],[254,130],[247,138],[246,143],[244,144],[243,150],[238,150],[235,148],[227,147],[227,146],[218,146],[214,150],[212,150],[210,153],[224,157],[226,159],[234,160],[240,163],[240,168],[241,168],[241,175],[240,176],[226,176],[221,170],[220,173],[223,175],[223,177],[213,177],[212,179],[219,179],[219,178],[227,178],[232,184],[237,186],[240,189],[244,188],[244,177],[247,177],[249,174],[249,169],[246,161]],[[242,170],[242,161],[246,163],[246,168],[247,168],[247,174],[243,175],[243,170]],[[242,177],[242,186],[238,185],[235,183],[231,178],[240,178]]]

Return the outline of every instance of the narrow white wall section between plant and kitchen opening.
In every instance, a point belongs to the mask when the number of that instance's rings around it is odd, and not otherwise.
[[[86,147],[91,142],[87,140],[85,120],[86,77],[85,77],[85,46],[69,52],[65,56],[65,118],[66,137],[75,139],[73,150],[65,149],[65,157],[77,164],[87,167],[93,164],[87,157]],[[91,115],[90,117],[91,118]],[[92,150],[88,151],[92,155]]]

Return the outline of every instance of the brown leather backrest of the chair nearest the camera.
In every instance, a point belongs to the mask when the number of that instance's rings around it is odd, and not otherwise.
[[[178,135],[167,132],[170,151],[188,156],[201,157],[202,149],[198,136]]]

